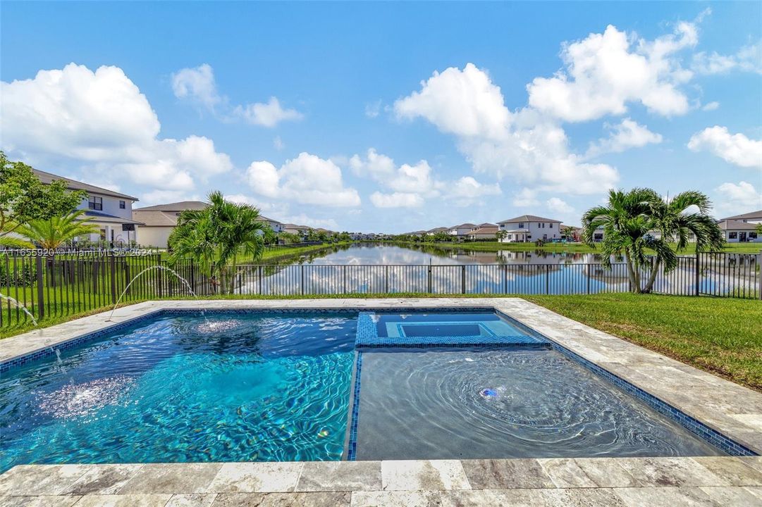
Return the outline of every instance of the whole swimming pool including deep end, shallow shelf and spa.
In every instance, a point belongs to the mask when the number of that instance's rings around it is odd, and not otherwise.
[[[723,454],[490,309],[161,311],[78,341],[0,376],[0,471]]]

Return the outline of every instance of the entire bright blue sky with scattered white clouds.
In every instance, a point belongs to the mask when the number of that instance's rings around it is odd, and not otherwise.
[[[762,5],[2,3],[11,158],[139,197],[411,231],[610,187],[762,208]]]

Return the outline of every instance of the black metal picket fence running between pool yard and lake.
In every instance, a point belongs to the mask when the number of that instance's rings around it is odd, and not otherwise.
[[[762,254],[700,253],[658,273],[654,292],[762,298]],[[168,268],[174,269],[174,273]],[[142,275],[137,276],[139,273]],[[135,278],[137,276],[137,278]],[[641,273],[642,278],[648,273]],[[130,283],[131,282],[131,283]],[[0,327],[109,308],[123,302],[190,295],[600,294],[629,292],[626,264],[243,265],[209,279],[191,260],[161,254],[84,250],[0,253]],[[18,302],[17,302],[18,301]]]

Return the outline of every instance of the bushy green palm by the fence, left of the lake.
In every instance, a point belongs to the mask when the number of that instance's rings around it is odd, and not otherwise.
[[[267,226],[260,221],[258,209],[226,201],[220,192],[210,193],[209,202],[206,209],[181,212],[169,237],[171,261],[197,260],[213,284],[232,294],[239,255],[251,260],[262,256]]]

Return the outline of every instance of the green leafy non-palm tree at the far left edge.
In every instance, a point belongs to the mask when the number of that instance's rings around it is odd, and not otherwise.
[[[0,244],[14,246],[18,239],[8,234],[33,220],[69,215],[86,196],[81,190],[68,190],[62,180],[43,184],[31,167],[9,161],[0,151]]]

